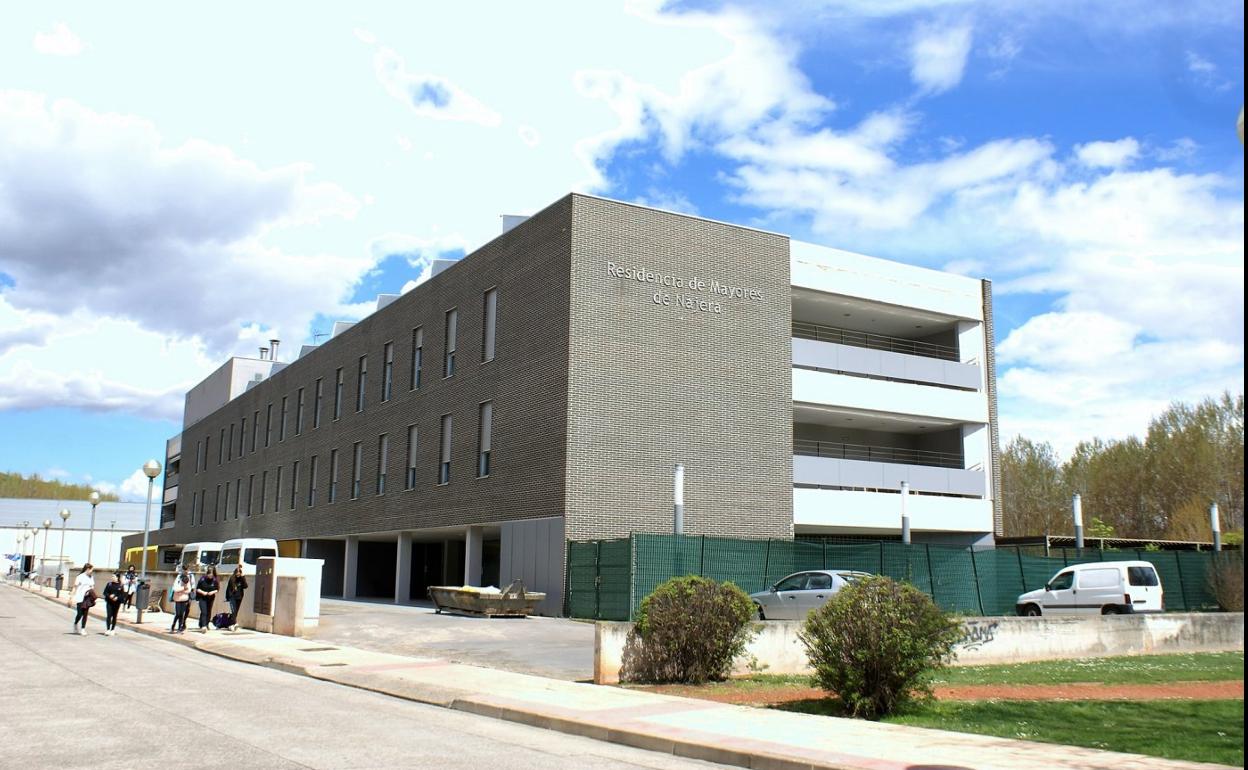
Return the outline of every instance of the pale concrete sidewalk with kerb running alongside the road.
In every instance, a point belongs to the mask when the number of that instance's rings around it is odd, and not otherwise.
[[[64,599],[62,599],[64,603]],[[67,612],[67,610],[66,610]],[[235,660],[397,698],[640,749],[768,770],[1179,770],[1221,768],[734,706],[560,681],[434,658],[409,658],[255,631],[165,633],[168,615],[132,630]],[[66,615],[71,619],[71,615]]]

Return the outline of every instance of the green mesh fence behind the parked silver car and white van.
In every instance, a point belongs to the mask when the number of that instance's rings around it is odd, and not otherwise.
[[[1223,558],[1224,554],[1223,554]],[[1234,557],[1242,564],[1242,554]],[[572,618],[629,620],[664,580],[704,575],[730,580],[746,593],[766,590],[809,569],[856,570],[904,580],[945,610],[963,615],[1015,613],[1018,594],[1042,588],[1071,564],[1138,559],[1157,568],[1166,609],[1214,610],[1211,552],[1102,550],[1005,547],[905,545],[895,540],[750,540],[700,535],[634,534],[615,540],[568,543],[565,613]]]

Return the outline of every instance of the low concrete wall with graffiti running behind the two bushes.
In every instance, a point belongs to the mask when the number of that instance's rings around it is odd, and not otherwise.
[[[594,681],[614,684],[631,623],[598,623],[594,634]],[[797,639],[801,623],[756,624],[759,634],[736,660],[734,675],[751,673],[810,674]],[[973,618],[953,665],[1025,663],[1244,649],[1243,613],[1169,613],[1097,615],[1092,618]]]

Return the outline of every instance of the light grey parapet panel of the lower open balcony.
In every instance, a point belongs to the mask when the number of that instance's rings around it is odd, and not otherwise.
[[[914,492],[983,497],[982,469],[910,465],[795,454],[792,483],[809,487],[849,487],[855,489],[901,489],[901,482]]]

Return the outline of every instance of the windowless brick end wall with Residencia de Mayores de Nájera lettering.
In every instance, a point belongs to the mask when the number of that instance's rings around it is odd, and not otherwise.
[[[573,196],[572,253],[568,538],[671,532],[676,463],[686,533],[790,537],[787,238]]]

